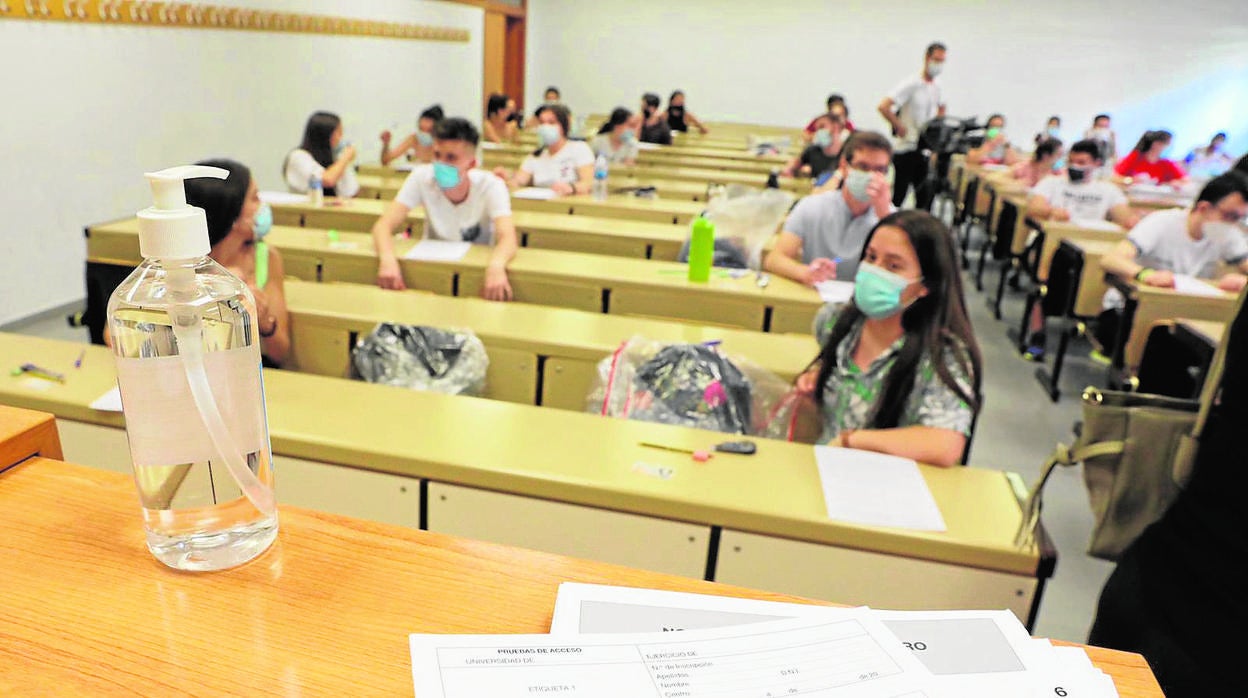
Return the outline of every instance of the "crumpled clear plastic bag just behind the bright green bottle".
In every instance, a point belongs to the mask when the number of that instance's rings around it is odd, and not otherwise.
[[[792,202],[794,195],[779,189],[730,185],[716,191],[705,214],[715,224],[715,266],[761,268],[763,247],[776,233]],[[689,260],[688,240],[678,260]]]

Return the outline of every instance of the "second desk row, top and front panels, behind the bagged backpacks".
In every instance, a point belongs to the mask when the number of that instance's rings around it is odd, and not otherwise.
[[[321,376],[351,375],[354,338],[379,322],[472,330],[485,345],[485,397],[583,411],[598,365],[630,337],[664,342],[721,342],[792,381],[819,352],[809,335],[776,335],[665,322],[568,308],[502,305],[363,283],[287,281],[292,368]]]

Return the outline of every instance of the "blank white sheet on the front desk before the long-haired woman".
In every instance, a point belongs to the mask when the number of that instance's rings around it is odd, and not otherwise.
[[[829,518],[865,526],[946,529],[945,517],[914,461],[816,446],[815,462]]]

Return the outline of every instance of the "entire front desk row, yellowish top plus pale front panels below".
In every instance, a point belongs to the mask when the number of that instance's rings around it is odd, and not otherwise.
[[[116,380],[109,350],[0,335],[0,362],[34,358],[65,382],[6,376],[0,403],[56,415],[66,460],[129,472],[122,416],[90,407]],[[885,608],[1026,621],[1052,573],[1016,546],[1023,487],[998,471],[921,467],[947,531],[876,528],[827,518],[810,446],[695,463],[645,443],[726,435],[290,371],[265,388],[287,504]]]

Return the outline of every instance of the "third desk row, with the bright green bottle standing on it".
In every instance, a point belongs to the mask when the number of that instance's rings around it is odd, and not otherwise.
[[[282,251],[286,271],[295,278],[374,283],[372,237],[351,232],[337,237],[329,240],[322,230],[275,226],[267,240]],[[414,243],[398,240],[396,251],[402,256]],[[403,278],[409,288],[479,297],[489,255],[490,248],[474,245],[458,261],[402,260]],[[137,220],[89,227],[87,261],[139,263]],[[519,302],[770,332],[809,333],[821,305],[816,291],[786,278],[771,277],[760,286],[753,272],[716,271],[709,282],[695,283],[686,278],[686,265],[678,262],[530,247],[517,252],[508,275]]]

